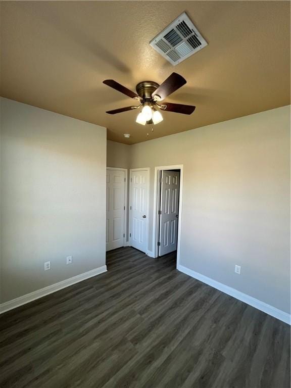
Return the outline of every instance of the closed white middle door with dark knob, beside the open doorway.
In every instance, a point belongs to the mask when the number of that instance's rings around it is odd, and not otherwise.
[[[148,240],[149,172],[131,171],[130,181],[130,244],[146,253]]]

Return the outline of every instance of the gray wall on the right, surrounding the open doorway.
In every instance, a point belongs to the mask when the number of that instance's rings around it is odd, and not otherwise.
[[[154,167],[183,164],[180,264],[289,312],[289,129],[287,106],[130,146],[151,167],[149,250]]]

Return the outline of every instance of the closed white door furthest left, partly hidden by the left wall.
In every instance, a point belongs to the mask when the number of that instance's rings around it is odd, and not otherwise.
[[[106,170],[106,251],[124,246],[125,171]]]

